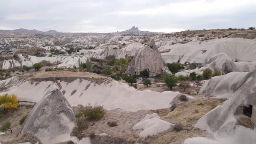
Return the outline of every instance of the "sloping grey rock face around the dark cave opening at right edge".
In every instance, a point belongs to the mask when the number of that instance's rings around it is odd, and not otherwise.
[[[236,116],[243,115],[241,107],[252,106],[251,121],[256,124],[256,71],[249,72],[229,100],[208,112],[197,121],[198,128],[210,132],[233,133],[236,128]],[[249,118],[249,117],[248,117]]]

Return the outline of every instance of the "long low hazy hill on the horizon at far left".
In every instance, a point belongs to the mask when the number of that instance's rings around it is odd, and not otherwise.
[[[59,33],[56,30],[49,30],[47,32],[42,32],[36,29],[13,29],[13,30],[1,30],[0,29],[0,33],[33,33],[33,34],[41,34],[41,33],[45,33],[45,34],[55,34],[55,33]]]

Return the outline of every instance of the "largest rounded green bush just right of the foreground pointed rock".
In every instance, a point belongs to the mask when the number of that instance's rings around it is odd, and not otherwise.
[[[87,105],[83,110],[83,114],[85,118],[98,120],[104,116],[105,112],[103,106],[101,105],[96,105],[94,107]]]

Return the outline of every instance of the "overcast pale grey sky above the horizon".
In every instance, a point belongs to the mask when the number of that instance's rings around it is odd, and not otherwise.
[[[256,26],[256,0],[0,0],[0,29],[108,33]]]

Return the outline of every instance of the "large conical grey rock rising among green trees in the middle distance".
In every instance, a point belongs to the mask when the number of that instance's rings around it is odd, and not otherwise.
[[[150,75],[157,75],[163,72],[171,73],[153,40],[136,52],[125,74],[135,75],[145,69],[149,71]]]

